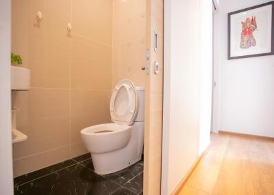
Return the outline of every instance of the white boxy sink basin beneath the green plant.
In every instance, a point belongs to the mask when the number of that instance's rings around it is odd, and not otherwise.
[[[12,90],[29,90],[30,71],[25,67],[12,66]]]

